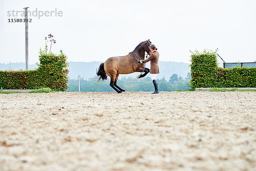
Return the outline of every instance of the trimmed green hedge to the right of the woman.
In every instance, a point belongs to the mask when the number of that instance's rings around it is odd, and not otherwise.
[[[190,87],[256,87],[256,68],[220,68],[216,52],[195,51],[191,55]]]

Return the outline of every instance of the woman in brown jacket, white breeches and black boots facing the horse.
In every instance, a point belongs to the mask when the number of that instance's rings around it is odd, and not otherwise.
[[[151,52],[151,55],[145,60],[140,60],[140,63],[142,64],[150,61],[150,75],[155,88],[155,91],[152,94],[156,94],[156,93],[159,93],[158,86],[157,86],[157,74],[159,74],[159,67],[158,67],[159,53],[157,52],[157,48],[154,44],[150,45],[150,52]]]

